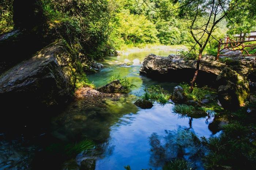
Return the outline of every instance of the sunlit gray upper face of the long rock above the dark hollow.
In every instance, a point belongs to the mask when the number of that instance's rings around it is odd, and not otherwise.
[[[200,70],[215,75],[220,74],[225,64],[215,61],[214,59],[215,58],[213,56],[202,57]],[[140,73],[151,74],[153,72],[157,72],[164,75],[168,74],[168,72],[172,70],[180,69],[196,69],[196,60],[184,60],[183,58],[175,55],[161,57],[150,54],[144,59],[143,65],[140,68]]]

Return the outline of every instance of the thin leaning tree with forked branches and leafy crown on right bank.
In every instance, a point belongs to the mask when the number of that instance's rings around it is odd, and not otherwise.
[[[162,12],[178,11],[178,16],[187,23],[187,28],[195,41],[189,52],[193,49],[199,51],[196,71],[191,82],[191,90],[193,90],[203,51],[209,40],[217,40],[212,33],[218,28],[218,24],[225,19],[235,23],[232,17],[239,13],[249,13],[251,18],[254,18],[255,0],[171,0],[171,2],[178,7]],[[147,0],[143,0],[143,3],[147,4]]]

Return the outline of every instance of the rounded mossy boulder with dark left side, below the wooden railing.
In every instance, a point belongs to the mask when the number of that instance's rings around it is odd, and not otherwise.
[[[244,106],[249,97],[248,81],[230,68],[224,68],[217,77],[218,100],[224,108],[237,109]]]

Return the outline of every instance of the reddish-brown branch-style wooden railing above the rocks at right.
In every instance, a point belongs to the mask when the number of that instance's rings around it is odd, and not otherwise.
[[[253,42],[255,43],[249,43]],[[235,56],[256,56],[256,40],[248,40],[248,41],[234,41],[231,40],[229,37],[225,39],[219,40],[218,44],[218,54],[216,60],[219,59],[219,56],[234,56],[234,55],[224,55],[220,54],[223,50],[228,49],[229,51],[241,51],[242,55],[235,55]]]

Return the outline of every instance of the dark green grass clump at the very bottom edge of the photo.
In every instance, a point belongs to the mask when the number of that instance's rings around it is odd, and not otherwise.
[[[167,162],[163,170],[190,170],[191,168],[192,163],[185,159],[174,159],[173,161]]]

